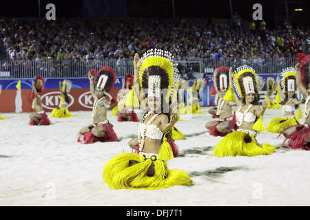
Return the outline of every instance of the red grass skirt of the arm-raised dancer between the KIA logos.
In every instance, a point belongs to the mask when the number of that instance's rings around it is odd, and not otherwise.
[[[95,126],[104,126],[107,131],[107,139],[103,139],[102,137],[96,137],[92,133],[92,129],[94,129]],[[118,138],[116,136],[116,133],[113,130],[113,125],[109,122],[105,124],[95,124],[94,126],[90,126],[90,130],[87,131],[84,135],[79,133],[78,135],[78,142],[81,142],[83,144],[92,144],[94,142],[118,142]]]

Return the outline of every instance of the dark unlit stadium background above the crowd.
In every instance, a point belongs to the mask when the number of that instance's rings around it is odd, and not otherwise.
[[[27,0],[1,1],[0,17],[41,17],[45,5],[56,5],[56,17],[173,17],[172,0]],[[230,7],[230,2],[232,7]],[[286,0],[289,21],[292,25],[309,26],[309,1]],[[286,19],[285,0],[174,0],[175,17],[231,18],[238,12],[242,19],[251,21],[254,3],[262,5],[262,17],[269,28],[276,28]],[[302,11],[295,11],[302,8]]]

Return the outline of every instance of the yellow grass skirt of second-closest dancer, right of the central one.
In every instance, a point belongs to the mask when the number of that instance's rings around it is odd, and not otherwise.
[[[273,153],[276,146],[270,144],[261,144],[258,146],[255,137],[249,134],[251,142],[246,143],[244,140],[246,133],[243,131],[235,131],[228,133],[214,148],[216,157],[227,157],[236,155],[252,157],[256,155],[269,155]]]

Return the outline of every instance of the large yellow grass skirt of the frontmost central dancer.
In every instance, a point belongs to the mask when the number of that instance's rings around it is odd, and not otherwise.
[[[132,161],[136,164],[130,166]],[[155,171],[152,177],[147,176],[149,166]],[[184,170],[169,170],[164,160],[145,159],[134,153],[122,153],[107,162],[103,169],[103,181],[112,189],[157,190],[192,185],[192,179]]]

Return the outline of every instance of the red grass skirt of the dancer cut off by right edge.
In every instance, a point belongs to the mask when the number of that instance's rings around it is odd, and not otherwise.
[[[305,126],[304,124],[296,124],[293,126],[289,126],[287,129],[291,127],[295,127],[296,129],[287,137],[285,137],[285,140],[282,142],[282,147],[290,147],[293,149],[302,149],[309,151],[310,145],[307,140],[310,134],[310,126]]]

